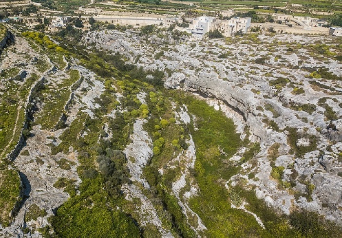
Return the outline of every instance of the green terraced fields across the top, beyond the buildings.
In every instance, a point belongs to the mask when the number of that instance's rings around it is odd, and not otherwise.
[[[196,17],[201,15],[217,16],[220,14],[220,11],[231,8],[235,9],[236,12],[247,12],[252,10],[259,14],[284,13],[299,16],[309,16],[311,14],[318,17],[342,12],[341,2],[326,0],[114,0],[95,2],[85,6],[85,8],[94,7],[100,8],[103,11],[112,12],[113,15],[119,12],[120,15],[131,12],[135,14],[148,13],[170,16],[186,13],[186,17]],[[337,17],[338,16],[335,16],[335,18]]]

